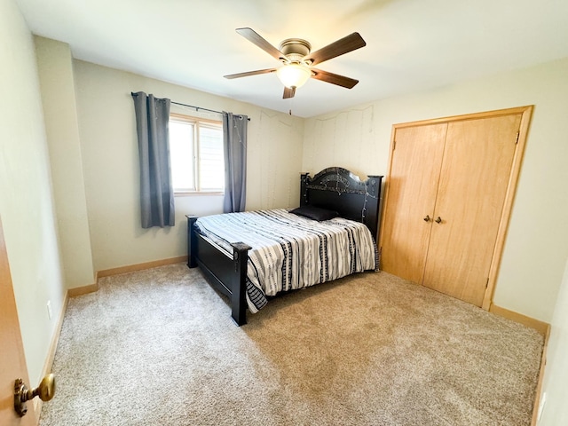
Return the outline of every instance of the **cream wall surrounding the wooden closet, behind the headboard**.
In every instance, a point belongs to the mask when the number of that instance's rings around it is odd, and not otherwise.
[[[494,303],[549,322],[568,256],[566,75],[558,60],[307,119],[304,170],[384,175],[393,123],[534,105]]]

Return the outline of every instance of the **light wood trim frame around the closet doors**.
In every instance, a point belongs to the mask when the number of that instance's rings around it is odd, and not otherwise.
[[[517,193],[518,177],[520,175],[521,165],[523,163],[523,157],[525,155],[526,139],[528,137],[529,125],[531,122],[531,116],[533,114],[533,108],[534,108],[533,105],[517,106],[514,108],[498,109],[494,111],[485,111],[482,113],[474,113],[474,114],[452,115],[449,117],[422,120],[418,122],[402,122],[402,123],[393,124],[390,133],[390,148],[389,148],[389,163],[388,163],[389,169],[387,171],[384,183],[384,198],[383,198],[384,201],[383,201],[383,210],[381,212],[381,217],[385,217],[385,213],[387,212],[388,209],[390,172],[392,167],[393,152],[395,148],[395,136],[398,129],[404,129],[406,127],[417,127],[417,126],[424,126],[430,124],[438,124],[443,122],[448,122],[448,123],[459,122],[465,120],[477,120],[480,118],[498,117],[501,115],[521,114],[521,122],[517,137],[517,150],[515,152],[515,156],[513,157],[513,163],[509,175],[509,185],[507,188],[507,193],[505,194],[503,209],[501,211],[499,230],[497,232],[497,240],[495,242],[495,247],[493,248],[493,257],[489,268],[489,280],[487,281],[487,288],[485,288],[485,296],[483,304],[481,306],[483,309],[485,309],[485,311],[489,311],[493,303],[493,294],[495,291],[497,278],[499,276],[499,268],[501,266],[501,256],[503,254],[503,248],[505,247],[505,240],[507,238],[507,231],[509,228],[509,218],[511,216],[511,212],[513,209],[515,195]],[[384,235],[383,226],[384,226],[384,220],[381,221],[379,247],[383,247],[383,235]]]

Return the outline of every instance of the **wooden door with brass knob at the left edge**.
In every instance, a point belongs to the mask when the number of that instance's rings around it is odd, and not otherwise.
[[[2,351],[0,351],[0,424],[3,426],[36,425],[37,417],[32,401],[29,401],[27,404],[28,414],[25,416],[20,417],[14,411],[14,381],[17,378],[21,378],[29,385],[29,379],[1,220],[0,345],[2,347]]]

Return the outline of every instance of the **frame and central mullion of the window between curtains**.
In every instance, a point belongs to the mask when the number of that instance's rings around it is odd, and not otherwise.
[[[200,130],[201,127],[209,129],[221,130],[221,135],[223,135],[223,122],[220,120],[211,120],[207,118],[194,117],[192,115],[170,113],[170,122],[185,122],[193,125],[193,182],[195,189],[176,189],[174,188],[174,196],[186,196],[186,195],[223,195],[225,194],[225,184],[223,189],[201,189],[201,161],[200,161]],[[171,154],[170,154],[171,155]],[[225,162],[225,158],[223,159]],[[173,171],[170,171],[173,173]],[[225,168],[223,170],[225,174]]]

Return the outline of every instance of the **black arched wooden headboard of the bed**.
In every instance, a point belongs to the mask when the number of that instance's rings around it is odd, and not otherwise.
[[[300,205],[335,210],[341,217],[362,222],[376,239],[382,179],[383,176],[368,176],[361,181],[341,167],[329,167],[314,177],[302,173]]]

